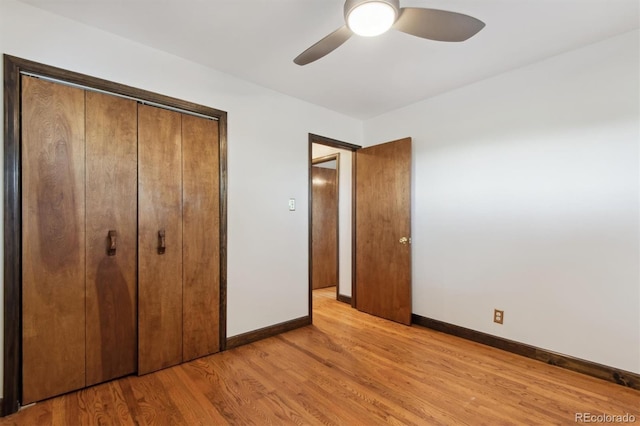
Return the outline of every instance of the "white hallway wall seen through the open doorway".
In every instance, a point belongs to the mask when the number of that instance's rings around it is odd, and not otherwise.
[[[323,135],[324,136],[324,135]],[[349,143],[354,143],[349,141]],[[351,297],[351,200],[353,153],[346,149],[333,148],[327,145],[312,144],[312,158],[340,154],[340,175],[338,176],[338,251],[339,273],[338,293]]]

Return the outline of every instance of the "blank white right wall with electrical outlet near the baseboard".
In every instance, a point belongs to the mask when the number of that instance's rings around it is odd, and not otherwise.
[[[365,122],[413,137],[414,313],[640,373],[638,40]]]

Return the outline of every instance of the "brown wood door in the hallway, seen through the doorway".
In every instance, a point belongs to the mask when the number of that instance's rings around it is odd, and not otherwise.
[[[338,285],[338,173],[336,169],[311,167],[313,208],[311,287]]]

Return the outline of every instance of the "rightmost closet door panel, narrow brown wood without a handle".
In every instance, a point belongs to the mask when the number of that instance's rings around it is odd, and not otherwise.
[[[183,360],[220,350],[218,122],[182,116]]]

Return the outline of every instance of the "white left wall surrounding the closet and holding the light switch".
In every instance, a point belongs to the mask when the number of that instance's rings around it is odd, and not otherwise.
[[[0,52],[227,111],[227,334],[308,314],[308,134],[360,143],[359,120],[13,0]]]

